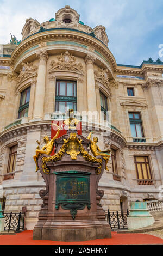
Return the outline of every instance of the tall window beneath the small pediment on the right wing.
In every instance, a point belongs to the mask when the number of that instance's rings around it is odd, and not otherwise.
[[[144,137],[140,113],[129,113],[132,137]]]

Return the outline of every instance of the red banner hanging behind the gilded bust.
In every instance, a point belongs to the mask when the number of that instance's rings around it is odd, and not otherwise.
[[[52,121],[51,123],[51,139],[56,135],[58,129],[57,129],[57,126],[58,125],[60,127],[60,133],[59,133],[59,137],[65,135],[67,133],[67,130],[68,130],[68,126],[64,124],[64,120],[62,121],[57,121],[57,120],[54,120]],[[78,131],[78,134],[79,135],[82,135],[82,122],[79,122],[76,126],[76,130]],[[59,138],[58,137],[58,138]],[[55,148],[55,147],[54,147]],[[54,149],[51,153],[51,156],[54,155]]]

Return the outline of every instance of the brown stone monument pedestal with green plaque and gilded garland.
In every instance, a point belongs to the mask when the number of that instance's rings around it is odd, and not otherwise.
[[[78,143],[81,139],[82,146]],[[89,141],[83,136],[69,133],[56,139],[57,153],[54,156],[39,157],[39,169],[45,179],[46,190],[40,191],[43,204],[33,239],[85,241],[111,237],[110,225],[105,221],[100,204],[104,191],[98,190],[105,160],[101,156],[96,159],[90,156],[88,145]],[[76,147],[79,151],[76,150],[78,155],[74,156],[71,150]],[[55,161],[59,152],[63,155]]]

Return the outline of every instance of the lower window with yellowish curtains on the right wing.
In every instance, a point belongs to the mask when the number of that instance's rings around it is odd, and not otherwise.
[[[148,156],[134,156],[135,160],[135,168],[137,173],[137,179],[139,180],[151,180],[152,174],[151,169],[149,166],[149,159]],[[139,182],[140,185],[142,182]],[[143,185],[153,185],[153,182],[149,182],[149,184],[143,184]]]

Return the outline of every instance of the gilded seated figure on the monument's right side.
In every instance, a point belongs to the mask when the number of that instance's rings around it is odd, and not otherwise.
[[[93,154],[93,156],[103,156],[103,159],[106,160],[106,165],[105,165],[105,169],[109,170],[107,167],[109,158],[110,158],[110,150],[105,150],[105,151],[101,151],[98,147],[98,145],[96,144],[98,142],[98,138],[97,137],[93,137],[93,141],[91,140],[91,135],[93,132],[90,132],[89,136],[87,137],[87,139],[89,139],[90,141],[90,149],[91,152]]]

